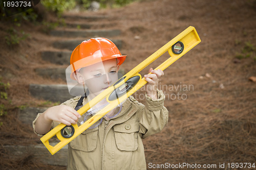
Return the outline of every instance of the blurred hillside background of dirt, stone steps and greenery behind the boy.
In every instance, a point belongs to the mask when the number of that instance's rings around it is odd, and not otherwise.
[[[3,2],[0,169],[66,169],[67,148],[51,156],[32,121],[72,97],[65,70],[81,41],[111,39],[127,55],[125,74],[189,26],[202,41],[164,70],[159,89],[169,120],[162,132],[143,140],[146,162],[255,162],[255,0],[42,0],[11,16]],[[143,104],[144,93],[134,94]]]

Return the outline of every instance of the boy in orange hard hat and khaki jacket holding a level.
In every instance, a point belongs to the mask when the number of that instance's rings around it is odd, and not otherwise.
[[[38,114],[33,122],[35,133],[46,134],[58,123],[81,125],[85,119],[75,108],[118,80],[117,71],[125,57],[109,39],[92,38],[78,45],[71,55],[71,78],[87,87],[88,92]],[[168,122],[165,96],[157,89],[163,71],[150,71],[153,74],[144,76],[148,82],[145,106],[130,96],[107,113],[102,123],[73,139],[68,147],[67,169],[146,169],[142,138],[160,132]],[[104,103],[99,102],[91,112]]]

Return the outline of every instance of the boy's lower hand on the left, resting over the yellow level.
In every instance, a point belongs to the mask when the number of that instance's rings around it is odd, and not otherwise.
[[[67,126],[76,124],[81,115],[73,108],[66,105],[53,106],[46,110],[45,118],[48,121],[56,121]]]

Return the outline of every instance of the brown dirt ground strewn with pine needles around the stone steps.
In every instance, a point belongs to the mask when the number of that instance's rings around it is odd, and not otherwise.
[[[160,80],[169,121],[162,132],[143,140],[147,165],[256,163],[256,83],[249,80],[256,76],[255,4],[255,1],[239,0],[156,0],[79,14],[108,16],[90,21],[92,29],[121,30],[121,36],[115,38],[124,42],[121,53],[127,55],[122,65],[125,71],[188,26],[195,27],[202,40],[168,67]],[[1,38],[7,34],[3,31],[6,27],[9,26],[0,25]],[[56,38],[42,32],[40,25],[28,23],[20,29],[26,30],[30,37],[15,47],[4,41],[0,44],[2,82],[10,83],[7,93],[12,100],[11,104],[1,100],[8,111],[0,117],[3,122],[0,126],[1,168],[65,169],[46,166],[31,155],[12,158],[1,147],[40,142],[29,126],[16,119],[17,106],[38,106],[44,102],[29,95],[30,83],[57,83],[34,72],[37,67],[51,66],[40,59],[39,52],[49,48]],[[168,54],[164,54],[150,66],[158,66],[167,57]],[[141,75],[149,68],[142,70]],[[143,103],[139,98],[142,93],[144,91],[139,90],[135,97]],[[226,166],[223,169],[244,168]]]

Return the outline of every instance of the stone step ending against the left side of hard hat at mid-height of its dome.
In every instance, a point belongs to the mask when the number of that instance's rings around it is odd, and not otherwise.
[[[72,51],[42,51],[41,58],[54,64],[69,65],[71,54]]]

